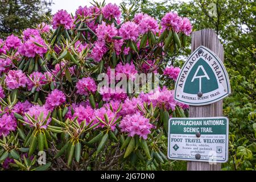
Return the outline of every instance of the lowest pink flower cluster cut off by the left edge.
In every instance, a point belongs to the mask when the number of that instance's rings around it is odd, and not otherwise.
[[[15,131],[17,126],[16,119],[13,114],[5,113],[0,117],[0,137],[7,136],[10,131]]]

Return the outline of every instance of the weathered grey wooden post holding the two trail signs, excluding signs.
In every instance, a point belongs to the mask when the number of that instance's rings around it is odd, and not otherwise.
[[[214,30],[204,29],[192,33],[191,52],[199,46],[212,50],[220,60],[224,61],[224,48]],[[222,116],[222,100],[205,106],[189,106],[189,117],[218,117]],[[208,162],[188,162],[188,171],[220,171],[221,163],[209,164]]]

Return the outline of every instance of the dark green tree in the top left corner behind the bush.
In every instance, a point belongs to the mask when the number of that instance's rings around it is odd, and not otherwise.
[[[51,14],[51,5],[48,0],[1,0],[0,38],[45,21],[43,15]]]

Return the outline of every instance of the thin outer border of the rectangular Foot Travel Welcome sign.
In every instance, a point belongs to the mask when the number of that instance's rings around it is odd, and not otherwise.
[[[198,119],[226,119],[226,145],[225,145],[225,159],[224,160],[213,160],[213,162],[217,162],[217,163],[226,163],[228,162],[229,159],[229,118],[227,117],[200,117],[200,118],[170,118],[168,121],[168,159],[171,160],[187,160],[187,161],[195,161],[195,162],[211,162],[209,159],[194,159],[194,158],[174,158],[170,156],[170,152],[171,152],[171,145],[170,145],[170,123],[172,120],[184,120],[184,119],[189,119],[189,120],[198,120]],[[183,135],[183,134],[180,134]],[[217,135],[217,134],[215,134]]]

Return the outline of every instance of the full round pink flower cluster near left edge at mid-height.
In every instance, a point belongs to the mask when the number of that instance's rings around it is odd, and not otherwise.
[[[26,87],[28,78],[21,70],[10,70],[5,77],[7,88],[18,89],[20,86]]]

